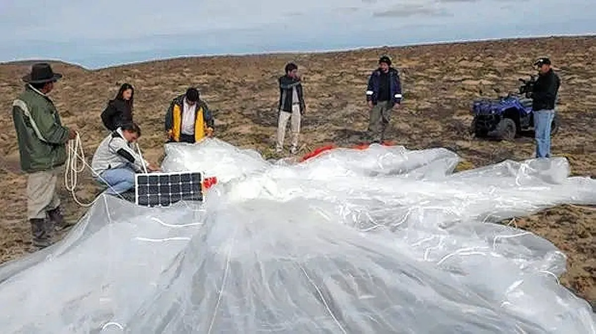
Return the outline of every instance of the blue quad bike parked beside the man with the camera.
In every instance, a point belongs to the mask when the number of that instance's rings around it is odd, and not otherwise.
[[[496,99],[482,98],[474,100],[471,113],[474,115],[470,132],[476,137],[497,137],[501,140],[514,140],[523,130],[533,128],[532,88],[536,76],[530,80],[519,79],[522,86],[519,94],[510,93]],[[551,123],[551,136],[559,128],[558,115],[555,113]]]

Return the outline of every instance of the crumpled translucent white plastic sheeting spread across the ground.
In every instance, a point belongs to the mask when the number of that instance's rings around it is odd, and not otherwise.
[[[565,256],[501,224],[596,203],[565,159],[453,173],[456,154],[371,146],[269,163],[167,144],[206,203],[98,200],[66,239],[0,267],[2,333],[596,333]],[[226,181],[222,181],[226,180]]]

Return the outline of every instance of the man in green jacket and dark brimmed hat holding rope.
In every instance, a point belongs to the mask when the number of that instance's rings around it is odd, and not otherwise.
[[[13,102],[21,169],[27,176],[27,218],[32,243],[45,248],[52,243],[52,230],[66,227],[60,212],[58,175],[66,162],[66,143],[74,129],[62,125],[60,115],[47,94],[62,78],[46,63],[34,64],[23,77],[24,91]]]

